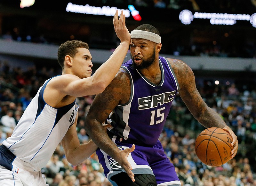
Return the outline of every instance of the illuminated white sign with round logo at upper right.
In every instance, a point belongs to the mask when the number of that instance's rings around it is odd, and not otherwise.
[[[184,25],[189,25],[195,18],[210,19],[212,25],[234,25],[236,20],[250,21],[256,27],[256,13],[252,14],[228,14],[228,13],[205,13],[195,12],[194,15],[189,10],[183,10],[179,15],[180,21]]]

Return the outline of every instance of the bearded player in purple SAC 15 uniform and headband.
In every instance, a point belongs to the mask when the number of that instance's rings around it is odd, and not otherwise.
[[[159,56],[161,37],[152,25],[131,32],[132,59],[125,62],[105,91],[98,94],[86,118],[86,131],[100,149],[96,151],[104,173],[115,186],[180,186],[174,166],[158,140],[175,96],[206,128],[219,127],[232,138],[233,158],[238,149],[235,133],[209,108],[198,90],[191,68],[183,61]],[[102,123],[113,127],[102,129]],[[127,160],[134,177],[122,167],[120,150],[135,150]]]

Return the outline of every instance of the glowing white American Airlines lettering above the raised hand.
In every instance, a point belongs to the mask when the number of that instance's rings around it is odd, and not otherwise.
[[[90,6],[89,4],[86,5],[78,5],[78,4],[72,4],[68,3],[66,7],[67,12],[73,12],[73,13],[81,13],[81,14],[91,14],[91,15],[100,15],[100,16],[114,16],[116,13],[116,10],[118,10],[118,13],[120,15],[121,10],[124,11],[124,15],[126,18],[130,17],[130,11],[124,10],[124,9],[118,9],[114,6],[103,6],[103,7],[96,7],[96,6]]]

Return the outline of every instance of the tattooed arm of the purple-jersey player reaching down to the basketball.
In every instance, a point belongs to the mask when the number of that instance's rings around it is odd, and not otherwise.
[[[229,132],[233,139],[231,145],[234,146],[234,149],[231,152],[231,158],[234,158],[238,149],[236,134],[226,125],[217,112],[206,105],[196,89],[195,76],[192,69],[183,61],[170,58],[168,60],[172,65],[172,69],[174,70],[174,74],[180,85],[180,97],[188,107],[189,111],[204,127],[219,127]]]

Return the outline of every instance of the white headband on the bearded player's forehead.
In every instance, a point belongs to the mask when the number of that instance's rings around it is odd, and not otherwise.
[[[157,35],[156,33],[153,33],[153,32],[143,31],[143,30],[133,30],[131,32],[131,39],[132,38],[147,39],[155,43],[161,43],[160,35]]]

